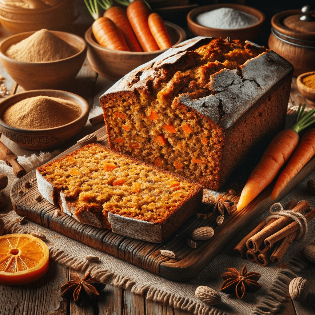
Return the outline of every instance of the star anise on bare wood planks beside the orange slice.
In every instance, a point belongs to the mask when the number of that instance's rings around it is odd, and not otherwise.
[[[99,292],[105,288],[105,284],[95,278],[90,277],[88,272],[81,280],[76,273],[70,273],[70,281],[61,285],[61,296],[66,299],[72,299],[77,305],[81,304],[84,297],[94,300]]]

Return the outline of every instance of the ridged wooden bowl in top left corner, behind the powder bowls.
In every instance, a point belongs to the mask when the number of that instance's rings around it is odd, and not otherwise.
[[[24,9],[0,3],[0,22],[12,34],[39,31],[42,28],[64,31],[76,19],[73,0],[64,0],[47,9]]]

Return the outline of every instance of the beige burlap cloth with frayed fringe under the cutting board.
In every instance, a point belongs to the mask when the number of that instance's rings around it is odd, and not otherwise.
[[[29,171],[45,163],[57,153],[59,152],[47,154],[37,152],[31,157],[19,156],[18,161]],[[309,221],[305,238],[300,242],[294,241],[291,244],[281,261],[282,268],[275,263],[269,263],[263,267],[245,259],[237,258],[233,255],[232,249],[253,227],[269,215],[269,209],[266,209],[259,218],[235,237],[228,246],[223,248],[221,253],[210,261],[195,278],[185,283],[172,282],[35,223],[27,222],[25,225],[19,225],[17,220],[20,217],[12,210],[9,199],[10,187],[16,177],[14,177],[12,169],[3,161],[0,161],[0,172],[9,177],[9,185],[4,189],[7,196],[6,207],[0,212],[0,216],[5,222],[5,233],[41,232],[47,236],[46,243],[49,246],[50,258],[60,264],[71,266],[76,270],[89,270],[92,276],[106,283],[125,289],[131,288],[134,293],[145,294],[147,299],[163,302],[163,304],[181,308],[194,314],[275,314],[288,296],[289,281],[295,278],[296,273],[306,265],[306,261],[299,255],[298,251],[307,243],[310,243],[315,236],[315,220],[313,219]],[[310,178],[315,178],[315,171],[282,198],[280,203],[285,205],[290,200],[307,200],[314,208],[315,196],[312,196],[306,190],[306,182]],[[84,258],[87,255],[98,255],[101,262],[88,262]],[[261,273],[259,283],[262,288],[256,293],[245,293],[242,300],[238,300],[235,295],[221,293],[219,288],[223,280],[220,275],[226,271],[225,268],[234,267],[240,271],[245,264],[248,271]],[[199,285],[206,285],[215,289],[220,293],[222,302],[217,306],[207,306],[198,300],[194,293]]]

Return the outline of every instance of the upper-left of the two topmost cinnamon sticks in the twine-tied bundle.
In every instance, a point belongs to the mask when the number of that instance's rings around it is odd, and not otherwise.
[[[292,211],[303,213],[310,208],[311,208],[310,203],[308,203],[307,201],[301,201],[292,209]],[[292,219],[286,216],[282,216],[281,218],[272,222],[270,225],[263,228],[260,232],[256,233],[254,236],[249,238],[246,242],[247,248],[252,252],[257,252],[259,247],[264,243],[264,240],[266,238],[278,232],[291,222]]]

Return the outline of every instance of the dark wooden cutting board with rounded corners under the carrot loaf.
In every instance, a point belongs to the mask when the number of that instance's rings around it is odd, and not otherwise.
[[[95,134],[99,142],[108,145],[105,127],[97,130]],[[72,146],[60,156],[66,155],[78,148],[78,145]],[[315,169],[315,157],[291,180],[279,198],[289,192],[313,169]],[[31,179],[34,179],[34,184],[30,188],[23,187],[23,182]],[[23,191],[22,194],[18,193],[20,189]],[[55,206],[45,199],[40,202],[35,200],[39,194],[35,170],[14,183],[11,189],[11,201],[16,213],[20,216],[26,216],[29,221],[45,226],[163,278],[173,281],[186,281],[192,279],[245,226],[257,218],[274,202],[270,198],[271,191],[272,187],[268,186],[247,207],[241,211],[235,211],[232,216],[225,219],[222,225],[217,225],[214,215],[210,215],[207,220],[203,220],[202,217],[197,218],[197,215],[194,215],[166,241],[160,244],[128,238],[109,230],[85,225],[66,214],[58,217],[55,216],[54,213],[57,209]],[[213,198],[218,196],[218,192],[207,192],[210,195],[212,193]],[[224,198],[237,202],[240,192],[235,195],[223,192],[219,194]],[[187,238],[191,239],[192,231],[200,226],[213,227],[215,235],[206,241],[196,241],[197,248],[193,249],[187,245],[186,240]],[[173,251],[176,255],[175,259],[161,255],[161,249]]]

